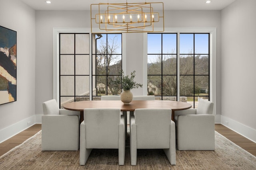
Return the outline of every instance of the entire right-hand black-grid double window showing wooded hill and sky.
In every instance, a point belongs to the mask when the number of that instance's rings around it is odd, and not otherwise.
[[[176,33],[148,33],[148,95],[158,96],[160,100],[177,100],[179,90],[180,100],[184,97],[184,102],[196,107],[198,98],[210,98],[210,36],[209,33],[180,33],[179,56],[177,36]]]

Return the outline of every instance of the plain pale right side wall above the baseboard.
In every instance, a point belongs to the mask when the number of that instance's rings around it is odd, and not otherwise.
[[[222,116],[254,130],[256,141],[256,1],[236,0],[222,10]],[[224,120],[223,119],[223,120]],[[226,122],[227,121],[227,122]],[[228,124],[228,121],[236,123]]]

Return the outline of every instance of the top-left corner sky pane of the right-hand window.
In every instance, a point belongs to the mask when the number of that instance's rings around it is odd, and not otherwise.
[[[162,34],[148,34],[148,54],[162,53]]]

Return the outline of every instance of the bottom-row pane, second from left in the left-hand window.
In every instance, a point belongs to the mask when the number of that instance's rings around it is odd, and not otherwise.
[[[89,96],[89,76],[76,76],[76,96]]]

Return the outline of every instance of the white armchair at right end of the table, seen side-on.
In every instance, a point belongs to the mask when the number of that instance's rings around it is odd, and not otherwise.
[[[195,109],[175,111],[178,150],[215,150],[213,103],[201,99]]]

